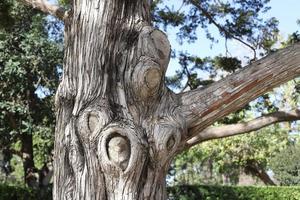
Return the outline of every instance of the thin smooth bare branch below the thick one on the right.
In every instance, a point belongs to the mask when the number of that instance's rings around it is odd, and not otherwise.
[[[284,122],[284,121],[296,121],[300,120],[300,110],[290,112],[275,112],[248,122],[242,122],[238,124],[225,125],[221,127],[209,127],[198,135],[187,141],[187,147],[194,146],[200,142],[224,138],[233,135],[249,133],[256,131],[268,125]]]

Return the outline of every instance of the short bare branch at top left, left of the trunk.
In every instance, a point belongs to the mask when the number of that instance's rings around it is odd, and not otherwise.
[[[25,2],[27,5],[32,6],[33,8],[36,8],[46,14],[53,15],[61,20],[64,20],[65,18],[65,9],[57,6],[57,5],[52,5],[47,0],[22,0]]]

